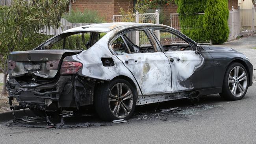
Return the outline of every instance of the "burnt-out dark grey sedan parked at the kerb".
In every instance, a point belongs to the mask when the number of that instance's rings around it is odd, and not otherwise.
[[[73,28],[34,50],[11,52],[9,103],[37,115],[84,111],[128,119],[135,105],[219,93],[240,100],[252,64],[232,48],[201,46],[165,25],[104,23]],[[17,103],[16,102],[16,103]]]

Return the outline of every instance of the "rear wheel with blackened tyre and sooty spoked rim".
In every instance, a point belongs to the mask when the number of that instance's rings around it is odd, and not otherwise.
[[[102,120],[127,120],[134,112],[136,98],[137,91],[128,81],[114,79],[96,87],[94,106]]]

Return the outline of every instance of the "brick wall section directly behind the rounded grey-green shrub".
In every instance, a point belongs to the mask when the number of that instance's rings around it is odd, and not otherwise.
[[[107,22],[112,22],[114,14],[115,0],[75,0],[72,3],[72,9],[78,8],[80,11],[84,9],[96,10],[103,16]]]

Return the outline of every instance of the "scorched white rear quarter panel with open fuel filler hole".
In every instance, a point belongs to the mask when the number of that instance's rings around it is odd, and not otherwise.
[[[109,33],[100,39],[88,50],[80,54],[65,57],[64,61],[78,61],[83,64],[78,75],[87,78],[95,78],[104,81],[111,81],[117,76],[126,76],[134,82],[137,88],[137,94],[140,96],[141,91],[132,73],[124,66],[108,48]],[[111,57],[115,63],[114,66],[103,66],[101,58]]]

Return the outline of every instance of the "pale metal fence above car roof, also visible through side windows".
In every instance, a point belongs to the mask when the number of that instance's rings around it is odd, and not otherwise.
[[[136,11],[133,15],[113,15],[113,22],[136,22],[136,23],[150,23],[159,24],[159,12],[156,10],[155,13],[143,13],[139,14]],[[159,38],[159,31],[156,32]],[[143,31],[136,31],[136,45],[137,46],[149,46],[150,42]]]

